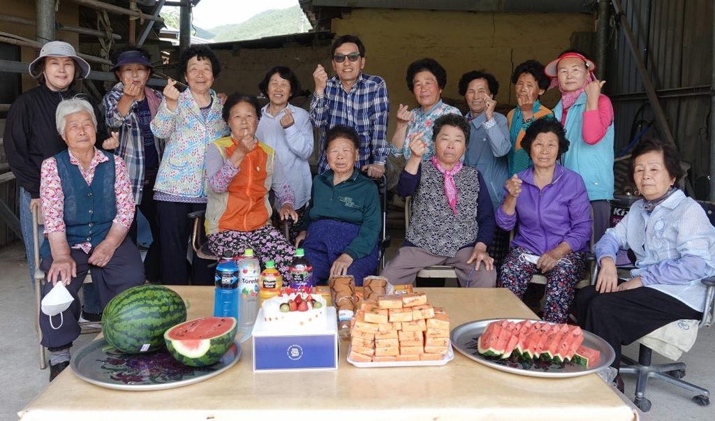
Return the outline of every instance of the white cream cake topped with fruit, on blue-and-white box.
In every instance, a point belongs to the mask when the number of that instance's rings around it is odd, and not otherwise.
[[[306,329],[325,325],[326,302],[312,289],[284,288],[263,302],[262,317],[267,328]]]

